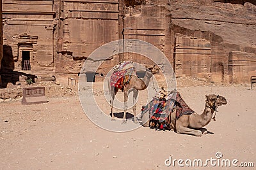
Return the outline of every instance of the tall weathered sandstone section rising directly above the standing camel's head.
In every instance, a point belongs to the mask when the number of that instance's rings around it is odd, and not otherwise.
[[[135,3],[132,3],[135,2]],[[136,3],[137,2],[137,3]],[[122,33],[124,39],[140,39],[156,46],[163,52],[170,62],[170,17],[166,16],[166,8],[163,4],[168,1],[125,1],[124,24]],[[136,5],[135,5],[136,4]],[[137,48],[133,46],[131,48]],[[140,64],[154,65],[150,59],[128,53],[121,57],[122,60],[133,60]],[[157,60],[157,64],[163,63],[163,59]]]

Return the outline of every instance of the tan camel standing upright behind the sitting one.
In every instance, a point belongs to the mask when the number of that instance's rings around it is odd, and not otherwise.
[[[136,76],[135,74],[132,74],[129,83],[127,83],[124,86],[124,89],[123,89],[124,90],[124,117],[123,117],[122,124],[125,124],[127,122],[126,120],[127,100],[128,100],[128,94],[131,91],[133,91],[133,106],[132,106],[133,121],[135,124],[138,123],[138,119],[136,117],[136,100],[138,96],[138,90],[147,89],[148,83],[151,77],[152,77],[151,71],[146,68],[145,76],[143,79],[138,78],[138,76]],[[108,81],[108,87],[109,87],[109,94],[110,94],[111,117],[112,117],[112,120],[115,120],[115,116],[113,112],[113,106],[114,106],[113,103],[114,103],[115,95],[120,89],[116,88],[115,86],[112,86],[110,83],[110,80]]]

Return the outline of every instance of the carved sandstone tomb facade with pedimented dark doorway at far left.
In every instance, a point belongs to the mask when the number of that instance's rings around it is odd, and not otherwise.
[[[3,0],[4,45],[12,49],[15,70],[22,70],[27,52],[32,73],[53,73],[53,0]]]

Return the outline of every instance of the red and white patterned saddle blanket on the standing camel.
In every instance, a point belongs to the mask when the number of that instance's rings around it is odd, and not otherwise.
[[[113,67],[113,70],[114,73],[110,77],[111,86],[121,90],[124,90],[124,86],[130,82],[132,74],[136,75],[131,61],[120,62]]]

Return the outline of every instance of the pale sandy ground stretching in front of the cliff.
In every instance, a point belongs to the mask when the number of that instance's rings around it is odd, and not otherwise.
[[[228,104],[218,109],[216,122],[206,127],[212,134],[195,137],[145,127],[109,132],[90,122],[77,96],[52,97],[49,103],[29,106],[20,101],[1,103],[0,169],[256,169],[256,89],[240,85],[178,90],[197,113],[204,110],[205,94],[227,98]],[[100,100],[101,95],[98,90],[95,98]],[[109,109],[102,99],[100,106]],[[221,159],[237,159],[237,165],[253,162],[254,167],[164,164],[170,156],[172,160],[205,162],[216,159],[216,152],[222,153]]]

